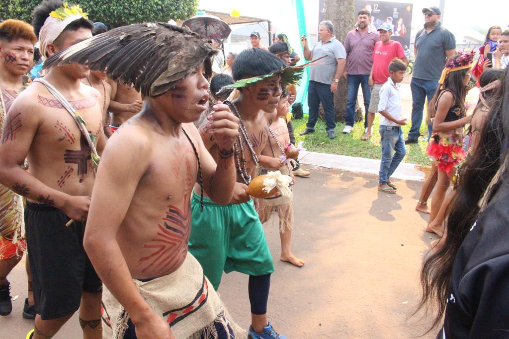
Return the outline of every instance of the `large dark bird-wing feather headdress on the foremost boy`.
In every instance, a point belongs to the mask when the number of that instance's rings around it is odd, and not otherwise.
[[[217,50],[187,27],[163,22],[111,29],[51,56],[44,69],[77,63],[157,97],[210,61]],[[208,65],[208,63],[206,63]],[[209,65],[210,66],[210,65]]]

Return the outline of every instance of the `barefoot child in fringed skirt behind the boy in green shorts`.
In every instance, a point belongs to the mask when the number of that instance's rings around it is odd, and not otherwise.
[[[286,91],[281,95],[279,104],[277,105],[277,118],[272,122],[269,127],[269,136],[267,145],[262,150],[262,156],[260,156],[260,162],[263,163],[267,158],[273,160],[278,168],[270,168],[271,170],[279,170],[281,174],[291,175],[290,160],[286,159],[285,148],[290,144],[290,135],[288,134],[288,128],[284,116],[288,114],[288,93]],[[284,158],[282,158],[284,157]],[[281,159],[284,159],[282,166]],[[295,266],[302,267],[304,260],[297,258],[292,253],[290,240],[292,238],[292,227],[293,227],[293,197],[284,197],[280,194],[276,194],[273,197],[267,199],[259,199],[259,210],[260,221],[265,224],[269,221],[270,215],[273,212],[277,212],[279,217],[279,237],[281,238],[281,261],[286,261]]]

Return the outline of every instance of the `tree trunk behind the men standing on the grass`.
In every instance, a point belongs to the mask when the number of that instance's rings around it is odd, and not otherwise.
[[[320,20],[332,21],[336,39],[344,43],[347,33],[355,26],[355,0],[321,0],[319,17]],[[347,80],[341,77],[334,95],[336,121],[345,121],[347,98]],[[360,121],[362,118],[363,112],[357,103],[355,121]]]

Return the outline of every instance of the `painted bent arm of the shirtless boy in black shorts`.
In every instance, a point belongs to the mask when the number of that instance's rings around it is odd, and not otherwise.
[[[20,99],[20,98],[18,98]],[[22,167],[32,141],[42,124],[29,100],[15,100],[7,114],[0,143],[0,183],[30,200],[55,206],[71,219],[87,218],[89,197],[73,197],[52,189]]]

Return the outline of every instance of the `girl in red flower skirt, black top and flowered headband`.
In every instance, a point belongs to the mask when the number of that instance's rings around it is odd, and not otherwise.
[[[438,170],[438,178],[431,201],[430,223],[426,231],[439,236],[443,234],[442,224],[432,228],[432,223],[440,210],[445,192],[456,175],[456,165],[465,158],[463,126],[472,119],[465,114],[465,86],[470,80],[472,61],[471,53],[457,53],[447,61],[437,91],[428,107],[430,119],[433,121],[433,135],[427,149],[433,160],[433,167]]]

